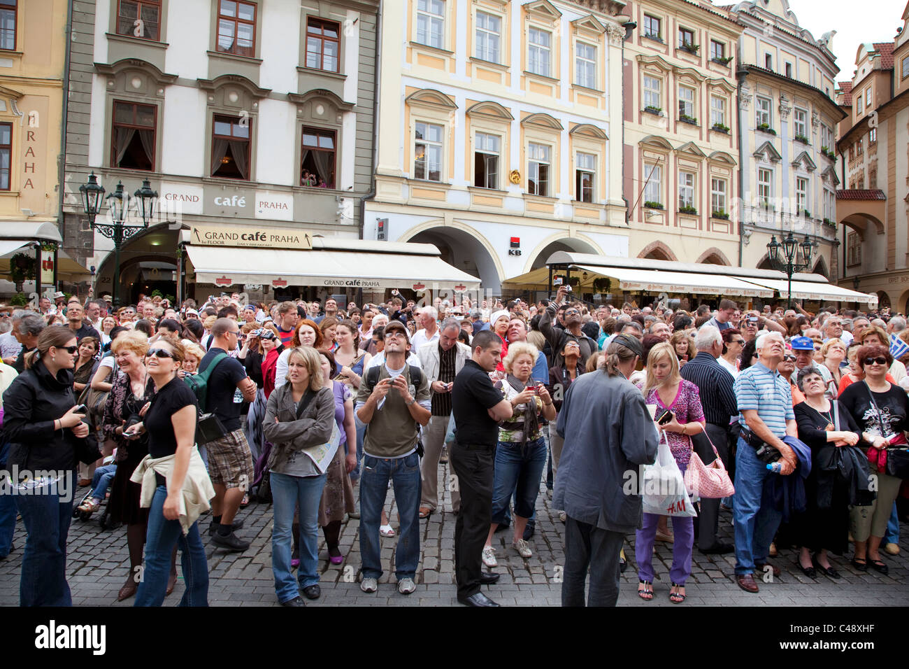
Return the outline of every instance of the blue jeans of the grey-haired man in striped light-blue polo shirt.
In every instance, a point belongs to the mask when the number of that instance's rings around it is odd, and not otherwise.
[[[762,504],[764,483],[769,476],[779,476],[757,459],[754,449],[738,441],[735,453],[735,573],[754,573],[754,564],[767,562],[770,544],[780,526],[782,514],[772,504]]]

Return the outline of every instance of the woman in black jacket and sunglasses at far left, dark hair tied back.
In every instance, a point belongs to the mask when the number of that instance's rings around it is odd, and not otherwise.
[[[15,503],[25,523],[19,603],[71,606],[66,583],[66,535],[73,517],[78,461],[101,457],[85,414],[76,413],[73,367],[78,356],[73,330],[45,328],[25,371],[4,393],[8,466],[17,468]],[[15,470],[14,470],[15,471]],[[28,477],[27,481],[25,477]]]

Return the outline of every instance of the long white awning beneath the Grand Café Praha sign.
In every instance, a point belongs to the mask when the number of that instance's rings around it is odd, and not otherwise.
[[[356,248],[352,240],[351,247]],[[387,245],[386,252],[358,250],[285,250],[187,245],[195,280],[215,286],[245,283],[285,286],[337,286],[339,288],[399,288],[474,290],[480,279],[456,269],[435,255],[406,253],[403,244]]]

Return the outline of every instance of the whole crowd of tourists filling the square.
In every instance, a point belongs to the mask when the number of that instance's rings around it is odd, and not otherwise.
[[[889,309],[589,304],[568,287],[536,304],[105,297],[0,305],[0,559],[18,515],[22,605],[72,602],[74,517],[125,530],[118,600],[163,603],[179,552],[181,604],[205,605],[205,542],[247,551],[250,502],[272,505],[279,603],[322,596],[320,529],[343,564],[352,518],[361,590],[379,587],[385,537],[398,592],[414,593],[445,463],[457,599],[471,606],[497,605],[483,588],[500,574],[496,532],[534,555],[541,491],[565,523],[564,605],[614,605],[631,538],[647,601],[654,544],[672,544],[673,603],[695,549],[734,553],[746,593],[786,549],[833,580],[844,560],[886,574],[899,552],[909,329]],[[629,472],[685,485],[670,503],[629,491]],[[704,477],[715,485],[691,482]]]

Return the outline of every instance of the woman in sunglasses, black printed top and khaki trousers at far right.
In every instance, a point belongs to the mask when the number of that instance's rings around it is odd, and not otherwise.
[[[905,390],[887,380],[887,370],[894,360],[889,349],[864,345],[856,357],[864,370],[864,380],[846,388],[839,400],[852,414],[862,431],[862,439],[872,446],[868,449],[868,461],[871,473],[877,476],[877,499],[870,506],[850,508],[849,524],[855,547],[853,566],[865,572],[870,565],[885,574],[889,570],[881,560],[879,549],[903,479],[887,473],[881,456],[887,447],[907,444],[904,431],[909,429],[909,398]]]

